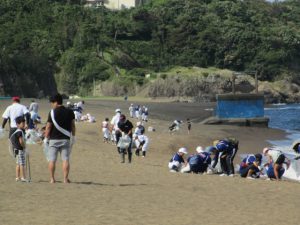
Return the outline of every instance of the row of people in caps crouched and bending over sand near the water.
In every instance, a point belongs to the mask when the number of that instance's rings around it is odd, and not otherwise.
[[[212,146],[203,149],[196,148],[194,154],[188,155],[186,148],[181,147],[172,156],[168,168],[170,172],[219,174],[220,176],[234,176],[233,160],[238,151],[239,142],[235,138],[216,140]],[[300,145],[294,149],[300,152]],[[186,157],[187,156],[187,157]],[[284,167],[283,165],[286,164]],[[290,160],[280,150],[264,148],[262,154],[249,154],[239,165],[241,177],[257,179],[268,177],[271,180],[280,180],[290,166]]]

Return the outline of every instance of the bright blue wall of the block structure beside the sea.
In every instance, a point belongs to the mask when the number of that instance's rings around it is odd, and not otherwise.
[[[264,96],[256,94],[217,95],[217,118],[264,117]]]

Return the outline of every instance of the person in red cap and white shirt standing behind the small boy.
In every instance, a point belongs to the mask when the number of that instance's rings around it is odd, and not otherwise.
[[[2,115],[2,129],[5,128],[7,121],[10,121],[9,137],[17,130],[17,124],[15,121],[17,117],[23,116],[26,118],[25,128],[28,127],[30,120],[30,113],[26,106],[20,104],[20,98],[17,96],[13,97],[12,101],[13,103],[5,109]]]

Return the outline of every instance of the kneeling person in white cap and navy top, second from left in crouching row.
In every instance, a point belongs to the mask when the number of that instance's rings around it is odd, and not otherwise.
[[[204,173],[211,163],[210,154],[205,152],[201,146],[196,148],[196,154],[187,159],[187,165],[181,169],[182,173]]]

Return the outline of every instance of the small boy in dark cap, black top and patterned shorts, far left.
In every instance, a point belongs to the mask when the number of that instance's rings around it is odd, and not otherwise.
[[[16,158],[16,181],[26,182],[25,176],[25,119],[23,116],[15,119],[17,130],[11,135],[10,141],[13,147],[13,153]]]

